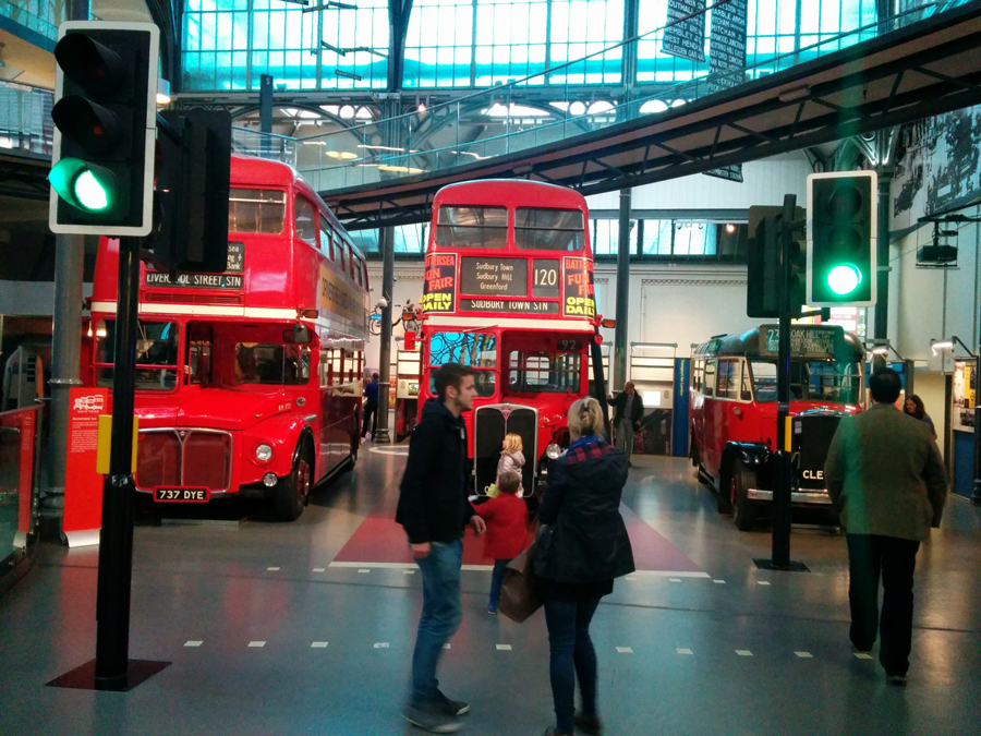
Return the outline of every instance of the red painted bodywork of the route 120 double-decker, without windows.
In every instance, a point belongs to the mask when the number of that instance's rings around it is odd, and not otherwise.
[[[472,206],[502,206],[509,210],[508,243],[504,249],[481,248],[445,248],[436,243],[436,228],[439,207],[444,205],[472,205]],[[493,333],[497,337],[497,374],[495,393],[493,396],[477,397],[474,400],[474,409],[485,405],[513,403],[533,407],[538,412],[538,456],[544,453],[554,437],[562,433],[567,426],[569,407],[577,399],[589,395],[590,342],[596,334],[598,316],[595,314],[595,293],[592,282],[593,261],[589,238],[589,228],[584,228],[584,249],[577,252],[549,251],[549,250],[519,250],[514,245],[514,209],[517,207],[542,207],[556,209],[578,209],[582,212],[583,222],[589,224],[589,209],[585,198],[578,192],[550,184],[530,181],[491,180],[480,182],[464,182],[445,186],[437,192],[433,203],[433,218],[429,228],[429,239],[426,250],[427,262],[435,255],[457,254],[455,268],[456,298],[455,307],[448,312],[423,311],[423,321],[419,339],[422,345],[422,376],[420,383],[420,401],[432,397],[429,393],[431,375],[437,366],[429,365],[429,340],[438,331],[477,331]],[[558,258],[562,263],[560,274],[561,285],[567,278],[564,258],[581,258],[585,262],[589,283],[584,285],[583,294],[593,303],[592,314],[566,316],[562,314],[562,291],[555,300],[559,302],[558,314],[529,314],[525,312],[477,312],[461,310],[460,273],[462,258],[465,256],[488,258],[525,258],[529,261],[529,288],[532,293],[531,281],[533,278],[532,261],[535,258]],[[428,278],[427,268],[427,278]],[[586,294],[588,292],[588,294]],[[548,301],[533,298],[514,298],[514,301]],[[507,381],[507,359],[512,350],[557,350],[560,340],[578,340],[581,345],[580,385],[576,390],[565,394],[557,393],[530,393],[513,391]],[[420,407],[422,409],[422,407]],[[473,412],[463,414],[467,422],[469,437],[469,456],[474,456],[474,426]],[[528,455],[528,453],[525,453]],[[526,462],[534,462],[538,458],[526,457]]]

